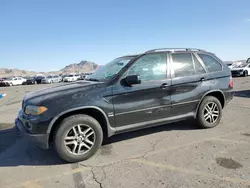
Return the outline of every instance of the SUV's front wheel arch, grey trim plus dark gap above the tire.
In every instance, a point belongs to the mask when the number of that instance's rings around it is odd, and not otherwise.
[[[114,130],[110,126],[108,117],[101,108],[97,106],[85,106],[85,107],[69,109],[54,117],[47,129],[47,134],[49,135],[49,142],[52,141],[56,128],[60,125],[60,122],[66,117],[75,114],[86,114],[95,118],[102,127],[104,137],[110,137],[114,134]]]

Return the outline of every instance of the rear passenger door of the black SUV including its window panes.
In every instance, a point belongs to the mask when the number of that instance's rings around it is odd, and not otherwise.
[[[192,115],[202,96],[210,90],[211,75],[191,52],[174,52],[171,61],[171,116]]]

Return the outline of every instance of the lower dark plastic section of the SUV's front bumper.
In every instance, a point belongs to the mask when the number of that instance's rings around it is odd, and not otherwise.
[[[20,132],[25,135],[28,139],[33,141],[40,148],[48,149],[49,148],[49,134],[32,134],[29,133],[27,128],[23,125],[23,122],[20,117],[16,118],[15,126]]]

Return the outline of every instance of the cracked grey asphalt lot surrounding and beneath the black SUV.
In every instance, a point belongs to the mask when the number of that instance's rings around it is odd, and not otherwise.
[[[114,136],[91,159],[65,164],[22,138],[11,125],[25,93],[50,85],[0,88],[1,188],[250,188],[250,77],[235,78],[236,97],[221,124],[192,121]]]

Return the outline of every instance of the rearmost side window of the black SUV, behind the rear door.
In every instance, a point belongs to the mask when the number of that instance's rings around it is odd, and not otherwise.
[[[221,64],[211,55],[199,54],[199,56],[210,72],[216,72],[222,70]]]

